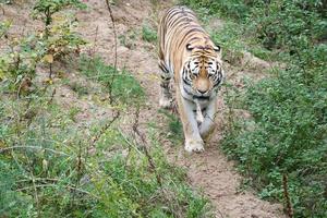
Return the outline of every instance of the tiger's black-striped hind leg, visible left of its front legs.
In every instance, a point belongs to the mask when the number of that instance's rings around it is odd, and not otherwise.
[[[161,70],[161,82],[160,82],[160,100],[159,105],[162,108],[170,108],[172,105],[172,95],[170,90],[170,81],[172,77],[172,74],[169,72],[169,70],[166,66],[166,63],[162,60],[159,60],[159,68]]]

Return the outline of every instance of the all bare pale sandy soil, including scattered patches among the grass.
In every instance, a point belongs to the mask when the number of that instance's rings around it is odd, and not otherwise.
[[[78,12],[80,22],[78,32],[88,41],[94,44],[94,50],[100,55],[108,63],[114,61],[114,39],[110,22],[109,12],[105,1],[84,0],[89,5],[88,10]],[[153,121],[164,122],[164,118],[158,114],[158,94],[159,80],[156,58],[156,47],[141,39],[143,24],[156,26],[158,11],[172,4],[171,1],[159,1],[155,5],[149,0],[119,0],[119,3],[112,7],[113,17],[117,25],[117,35],[135,35],[135,39],[118,46],[118,68],[126,68],[132,72],[146,90],[147,107],[142,112],[143,122]],[[24,9],[24,8],[23,8]],[[7,16],[14,17],[14,10],[11,7],[5,8]],[[28,16],[25,14],[25,16]],[[23,17],[23,19],[22,19]],[[219,20],[214,22],[216,27],[221,26]],[[21,25],[29,26],[27,19],[21,14]],[[39,24],[38,24],[39,25]],[[19,28],[17,24],[16,28]],[[89,49],[88,49],[89,50]],[[250,57],[250,58],[249,58]],[[269,64],[262,60],[251,59],[246,55],[245,61],[241,66],[226,65],[227,80],[241,85],[241,78],[246,76],[257,76],[261,68],[268,68]],[[246,62],[246,63],[244,63]],[[251,68],[247,68],[247,64]],[[250,71],[256,69],[258,71]],[[75,75],[72,73],[71,78]],[[77,80],[77,78],[76,78]],[[89,99],[80,99],[76,94],[68,87],[58,88],[56,100],[61,101],[68,107],[74,104],[81,108],[80,120],[92,121],[104,117],[110,117],[110,110],[95,105]],[[219,141],[222,135],[225,124],[222,111],[225,110],[223,99],[219,98],[220,116],[217,118],[217,131],[215,136],[206,145],[206,150],[202,154],[187,155],[182,145],[165,144],[165,150],[169,160],[187,171],[191,184],[194,189],[203,190],[205,195],[211,201],[216,217],[231,218],[274,218],[286,217],[282,214],[282,206],[271,204],[259,199],[251,191],[241,191],[242,177],[237,172],[234,164],[229,161],[219,147]],[[126,121],[128,122],[128,121]]]

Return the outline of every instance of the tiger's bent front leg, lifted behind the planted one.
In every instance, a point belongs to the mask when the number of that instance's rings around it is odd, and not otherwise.
[[[202,138],[206,140],[215,128],[215,113],[217,108],[217,100],[214,99],[209,102],[204,111],[204,121],[199,125],[199,134]]]

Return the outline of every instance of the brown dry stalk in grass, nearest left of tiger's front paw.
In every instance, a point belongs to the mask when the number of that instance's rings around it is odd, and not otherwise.
[[[154,161],[153,157],[150,156],[150,154],[148,152],[147,142],[146,142],[144,135],[141,134],[140,131],[138,131],[138,118],[140,118],[140,107],[137,107],[136,111],[135,111],[135,122],[133,123],[133,131],[141,138],[141,141],[143,143],[144,154],[145,154],[145,156],[146,156],[146,158],[147,158],[147,160],[149,162],[149,167],[155,172],[155,175],[156,175],[158,184],[162,187],[162,181],[161,181],[160,175],[157,172],[157,168],[156,168],[155,161]]]

